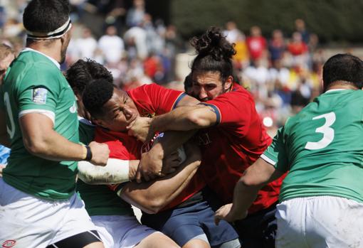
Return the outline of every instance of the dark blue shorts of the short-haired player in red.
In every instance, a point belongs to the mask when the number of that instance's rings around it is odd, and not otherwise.
[[[163,232],[179,246],[201,234],[206,234],[211,247],[238,239],[237,232],[226,221],[214,224],[214,211],[203,201],[187,207],[159,212],[155,215],[143,214],[142,224]]]

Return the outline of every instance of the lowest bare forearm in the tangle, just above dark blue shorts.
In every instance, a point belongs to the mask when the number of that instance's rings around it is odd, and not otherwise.
[[[147,183],[127,183],[121,198],[147,213],[156,213],[169,204],[188,185],[201,161],[189,157],[174,173]]]

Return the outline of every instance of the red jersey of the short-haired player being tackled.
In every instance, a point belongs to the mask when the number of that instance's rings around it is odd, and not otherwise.
[[[141,117],[154,117],[155,115],[170,112],[180,99],[185,96],[184,92],[169,90],[156,84],[142,85],[127,91],[127,94],[135,102]],[[141,158],[142,153],[149,151],[152,147],[152,142],[143,144],[134,137],[128,136],[127,133],[107,131],[100,127],[96,128],[95,141],[109,146],[110,158],[122,160],[138,160]],[[197,172],[189,185],[163,210],[175,207],[191,198],[204,186],[204,180],[201,174]]]

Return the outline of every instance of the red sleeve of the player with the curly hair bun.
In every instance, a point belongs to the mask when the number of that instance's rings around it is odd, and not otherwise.
[[[256,114],[253,99],[244,89],[224,93],[203,104],[214,109],[218,125],[238,129],[242,135],[248,132],[251,115]]]

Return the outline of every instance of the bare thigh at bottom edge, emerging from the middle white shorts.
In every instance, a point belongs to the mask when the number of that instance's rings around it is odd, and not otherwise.
[[[135,248],[178,248],[179,245],[162,232],[154,232],[142,239]]]

